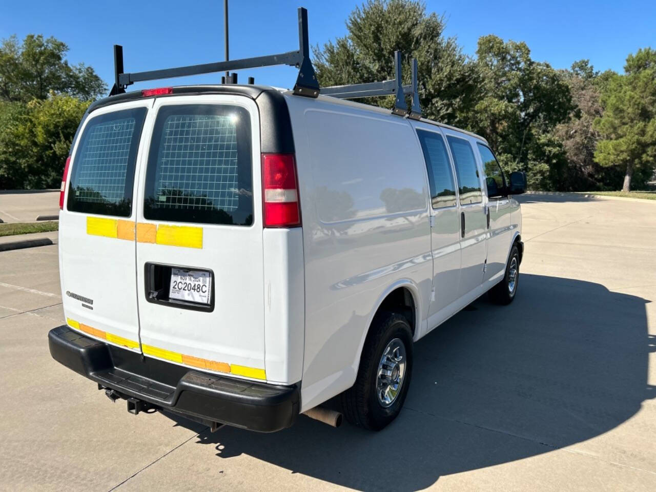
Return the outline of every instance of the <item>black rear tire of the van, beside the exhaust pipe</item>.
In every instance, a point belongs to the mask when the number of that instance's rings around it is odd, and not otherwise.
[[[390,350],[384,358],[388,347]],[[402,352],[405,354],[399,360]],[[377,314],[362,349],[356,382],[342,393],[342,411],[346,420],[354,426],[380,430],[396,419],[410,386],[412,365],[413,340],[407,319],[400,314]],[[387,388],[381,396],[378,390],[379,370],[386,373],[388,378],[380,378],[381,385]],[[393,388],[395,375],[396,381],[400,380],[396,390]],[[392,401],[386,401],[390,398]]]

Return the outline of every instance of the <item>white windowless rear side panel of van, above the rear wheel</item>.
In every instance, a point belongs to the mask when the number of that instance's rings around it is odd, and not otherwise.
[[[286,99],[305,257],[303,411],[352,386],[367,328],[391,285],[414,285],[417,325],[426,319],[428,186],[407,120],[331,98]]]

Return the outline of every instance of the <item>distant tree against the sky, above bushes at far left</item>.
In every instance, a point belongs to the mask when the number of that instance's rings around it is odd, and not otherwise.
[[[51,92],[81,100],[95,99],[107,86],[94,70],[66,61],[68,46],[54,37],[29,34],[22,43],[13,35],[0,45],[0,99],[30,102]]]

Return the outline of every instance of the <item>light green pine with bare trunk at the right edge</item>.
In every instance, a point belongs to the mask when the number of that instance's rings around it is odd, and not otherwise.
[[[625,74],[609,77],[602,106],[594,157],[625,171],[622,190],[628,192],[634,174],[649,175],[656,166],[656,51],[640,49],[626,58]]]

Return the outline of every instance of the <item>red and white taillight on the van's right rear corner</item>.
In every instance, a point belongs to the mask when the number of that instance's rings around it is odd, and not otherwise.
[[[293,154],[262,154],[264,227],[300,226]]]

